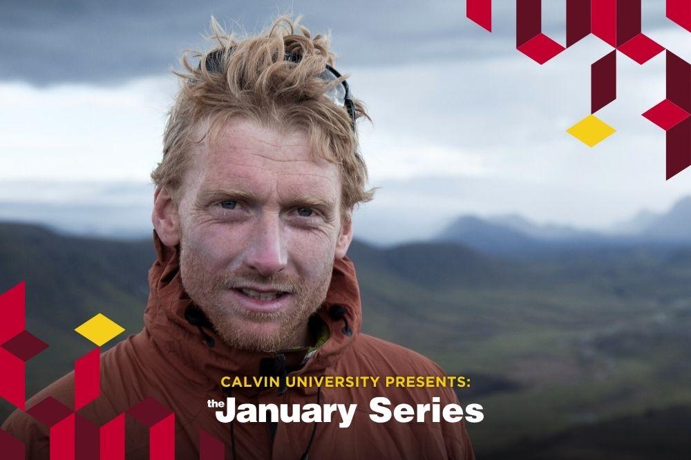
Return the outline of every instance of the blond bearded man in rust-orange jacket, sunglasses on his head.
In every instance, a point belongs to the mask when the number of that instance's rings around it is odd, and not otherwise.
[[[77,413],[102,426],[142,399],[176,414],[176,457],[196,459],[200,437],[227,459],[471,459],[462,423],[374,423],[370,400],[456,401],[444,388],[290,387],[287,376],[439,376],[408,349],[360,334],[352,211],[372,198],[355,120],[366,117],[332,67],[328,41],[281,18],[265,34],[187,57],[153,171],[154,244],[144,329],[102,355],[102,394]],[[278,387],[224,387],[223,378],[277,377]],[[29,402],[73,407],[68,374]],[[231,423],[207,400],[355,403],[338,423]],[[32,459],[48,458],[48,429],[26,413],[3,429]],[[78,427],[79,429],[79,427]],[[77,435],[79,448],[79,434]],[[128,416],[128,459],[149,457]]]

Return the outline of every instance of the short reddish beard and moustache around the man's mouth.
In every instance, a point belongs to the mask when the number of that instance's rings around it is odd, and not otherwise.
[[[207,315],[227,345],[255,352],[304,345],[307,322],[326,298],[333,265],[333,260],[324,262],[312,284],[281,272],[272,276],[249,269],[211,273],[203,258],[187,249],[184,238],[180,242],[180,276],[189,298]],[[276,312],[254,312],[223,298],[229,289],[247,285],[290,293],[292,303]]]

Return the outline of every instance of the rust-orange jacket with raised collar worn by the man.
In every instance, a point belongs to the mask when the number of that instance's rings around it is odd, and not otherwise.
[[[240,403],[357,404],[349,428],[330,423],[220,423],[207,400],[225,401],[223,376],[438,376],[443,371],[409,349],[360,333],[362,312],[352,262],[337,260],[327,298],[317,314],[328,339],[316,351],[247,352],[228,347],[182,289],[178,249],[164,246],[154,231],[157,260],[149,270],[150,293],[144,329],[101,357],[101,396],[77,411],[101,426],[147,397],[175,412],[176,458],[198,459],[200,430],[225,443],[233,459],[474,459],[463,423],[432,421],[375,423],[370,400],[385,396],[393,405],[457,403],[451,388],[235,387]],[[322,325],[322,327],[324,327]],[[301,367],[300,367],[301,365]],[[297,370],[294,370],[297,368]],[[73,408],[74,374],[33,396],[27,408],[46,396]],[[26,445],[29,459],[48,459],[48,428],[15,411],[3,424]],[[231,430],[232,428],[232,430]],[[232,432],[231,432],[232,431]],[[314,434],[314,436],[313,436]],[[310,439],[312,442],[310,443]],[[149,458],[144,425],[126,417],[127,459]],[[79,437],[77,437],[79,448]],[[307,452],[308,451],[308,452]]]

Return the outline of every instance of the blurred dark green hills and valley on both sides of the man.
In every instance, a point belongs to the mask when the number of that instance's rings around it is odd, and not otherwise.
[[[551,251],[509,262],[449,243],[354,242],[349,256],[365,332],[472,378],[459,396],[484,405],[485,420],[468,427],[478,458],[638,459],[623,448],[627,430],[650,414],[689,423],[691,249]],[[96,312],[138,332],[153,257],[149,241],[0,224],[0,289],[27,281],[29,329],[51,346],[30,361],[30,393],[90,349],[73,328]],[[651,433],[648,448],[666,439]]]

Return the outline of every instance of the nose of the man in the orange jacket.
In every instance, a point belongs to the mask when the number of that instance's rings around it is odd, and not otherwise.
[[[278,214],[265,213],[259,218],[245,261],[263,276],[272,276],[285,268],[288,263],[287,249]]]

